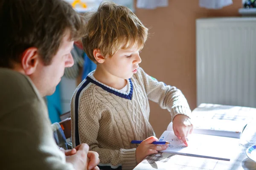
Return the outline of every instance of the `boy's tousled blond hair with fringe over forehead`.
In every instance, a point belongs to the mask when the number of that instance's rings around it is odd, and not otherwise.
[[[98,10],[87,17],[89,20],[82,44],[87,56],[96,64],[94,49],[99,49],[104,57],[111,57],[120,48],[132,47],[134,43],[139,50],[142,49],[148,37],[148,28],[137,16],[129,8],[113,2],[101,3]]]

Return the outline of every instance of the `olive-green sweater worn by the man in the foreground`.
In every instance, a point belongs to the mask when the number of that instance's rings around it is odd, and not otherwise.
[[[73,170],[55,143],[47,107],[32,81],[0,68],[1,170]]]

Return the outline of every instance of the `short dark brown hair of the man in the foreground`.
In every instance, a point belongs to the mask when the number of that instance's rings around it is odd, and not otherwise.
[[[30,47],[49,65],[66,32],[78,40],[83,27],[84,18],[64,0],[0,0],[0,67],[13,68]]]

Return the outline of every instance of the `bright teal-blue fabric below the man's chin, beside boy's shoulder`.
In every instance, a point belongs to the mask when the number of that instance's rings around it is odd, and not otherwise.
[[[46,96],[47,99],[47,108],[49,112],[49,118],[52,123],[60,122],[61,111],[61,93],[60,85],[58,84],[54,94],[51,96]]]

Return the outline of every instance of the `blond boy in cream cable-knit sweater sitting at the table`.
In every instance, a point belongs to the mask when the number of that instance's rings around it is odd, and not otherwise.
[[[73,145],[85,142],[98,152],[100,169],[123,170],[166,149],[151,144],[157,138],[148,122],[148,99],[170,111],[175,135],[187,144],[193,127],[185,97],[139,67],[148,29],[136,15],[124,6],[102,3],[91,14],[86,33],[84,51],[97,67],[71,100]],[[131,140],[144,141],[137,147]]]

